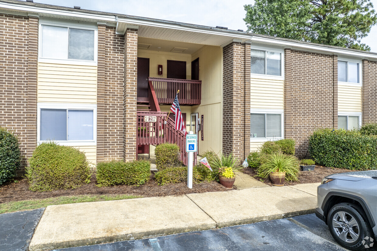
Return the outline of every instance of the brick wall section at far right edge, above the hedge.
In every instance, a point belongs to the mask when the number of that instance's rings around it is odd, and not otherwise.
[[[377,62],[363,60],[362,124],[377,123]]]

